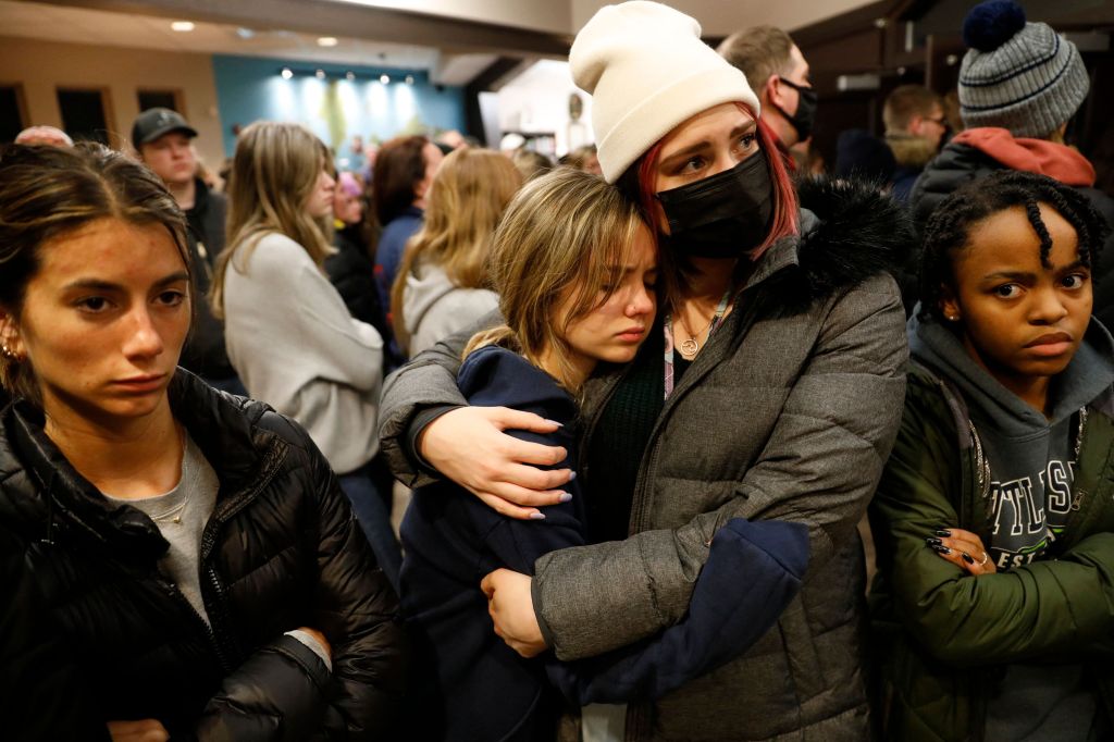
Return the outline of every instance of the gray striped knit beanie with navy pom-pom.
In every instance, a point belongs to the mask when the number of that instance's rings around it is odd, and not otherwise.
[[[997,126],[1044,137],[1075,115],[1091,81],[1078,49],[1046,23],[1027,23],[1013,0],[989,0],[964,19],[959,115],[968,128]]]

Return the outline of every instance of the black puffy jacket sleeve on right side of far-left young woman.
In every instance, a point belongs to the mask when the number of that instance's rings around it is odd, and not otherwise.
[[[299,449],[315,507],[316,585],[305,625],[332,648],[332,674],[293,636],[255,651],[222,683],[196,724],[201,740],[276,742],[390,740],[404,684],[408,645],[398,598],[352,515],[329,463],[305,431],[274,416]],[[296,626],[291,626],[296,628]]]

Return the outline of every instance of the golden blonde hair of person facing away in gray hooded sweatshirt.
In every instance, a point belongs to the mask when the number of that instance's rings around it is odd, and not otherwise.
[[[455,286],[486,287],[491,237],[521,184],[510,159],[490,149],[455,149],[441,163],[430,185],[424,223],[407,243],[391,286],[391,322],[403,349],[410,344],[402,316],[407,276],[432,264],[443,269]]]

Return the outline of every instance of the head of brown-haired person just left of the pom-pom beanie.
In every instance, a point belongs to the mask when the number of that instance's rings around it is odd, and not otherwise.
[[[924,85],[898,86],[882,104],[882,123],[886,144],[897,160],[890,195],[907,204],[912,184],[936,157],[948,131],[944,101]]]

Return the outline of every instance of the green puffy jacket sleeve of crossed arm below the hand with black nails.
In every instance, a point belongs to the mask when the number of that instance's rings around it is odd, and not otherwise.
[[[925,545],[956,525],[956,424],[931,381],[915,379],[893,453],[871,504],[879,569],[906,629],[954,666],[1018,662],[1084,648],[1111,652],[1114,534],[1096,533],[1058,559],[970,576]]]

